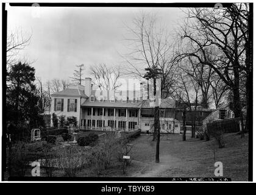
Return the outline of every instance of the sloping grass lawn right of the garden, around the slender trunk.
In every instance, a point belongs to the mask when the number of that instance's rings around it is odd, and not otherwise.
[[[130,177],[215,177],[215,162],[223,164],[223,177],[247,180],[248,135],[224,135],[225,147],[219,149],[214,139],[204,141],[182,135],[162,135],[160,163],[155,163],[155,141],[149,135],[133,140]],[[135,171],[135,167],[137,171]]]

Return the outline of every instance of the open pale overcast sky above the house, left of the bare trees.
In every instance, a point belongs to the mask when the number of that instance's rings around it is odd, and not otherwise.
[[[123,65],[127,54],[127,26],[141,11],[156,13],[171,31],[179,23],[179,8],[130,7],[9,7],[8,30],[31,34],[29,46],[20,53],[35,60],[35,74],[43,82],[68,79],[76,65]],[[128,35],[129,36],[129,35]],[[71,81],[71,79],[69,79]]]

